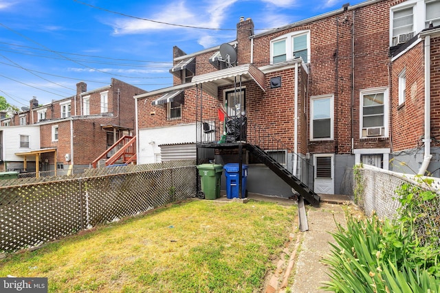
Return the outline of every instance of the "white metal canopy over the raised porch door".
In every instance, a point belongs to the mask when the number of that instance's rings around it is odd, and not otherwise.
[[[218,98],[217,93],[219,86],[233,84],[237,76],[241,76],[241,82],[254,80],[254,82],[258,84],[263,91],[265,91],[264,73],[260,69],[254,67],[252,64],[244,64],[202,75],[195,75],[195,77],[192,78],[192,83],[203,84],[202,90],[204,92],[208,93],[212,97]]]

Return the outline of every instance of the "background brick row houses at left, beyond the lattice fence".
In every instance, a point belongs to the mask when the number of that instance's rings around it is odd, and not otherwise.
[[[69,168],[89,167],[120,137],[133,134],[133,96],[145,93],[144,90],[115,78],[108,86],[91,91],[87,91],[84,82],[76,86],[76,95],[72,97],[43,106],[32,99],[29,110],[7,119],[8,127],[39,126],[39,151],[29,151],[41,152],[40,171],[52,171],[56,166],[62,174]],[[56,161],[45,152],[47,149],[56,150]]]

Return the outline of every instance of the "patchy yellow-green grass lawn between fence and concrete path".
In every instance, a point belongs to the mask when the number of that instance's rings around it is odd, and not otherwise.
[[[49,292],[260,292],[294,222],[294,206],[187,200],[8,255],[0,277],[47,277]]]

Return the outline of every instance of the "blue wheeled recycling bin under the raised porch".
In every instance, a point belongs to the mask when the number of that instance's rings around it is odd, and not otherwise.
[[[230,163],[223,166],[226,176],[226,198],[239,198],[239,163]],[[248,178],[248,165],[241,165],[241,197],[245,198],[246,181]]]

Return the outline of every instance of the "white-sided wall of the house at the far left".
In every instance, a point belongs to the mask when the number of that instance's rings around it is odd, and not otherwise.
[[[40,149],[40,126],[6,126],[0,127],[3,135],[3,161],[23,161],[23,156],[16,152],[30,152]],[[20,148],[20,135],[29,135],[29,148]],[[28,161],[35,161],[29,156]]]

